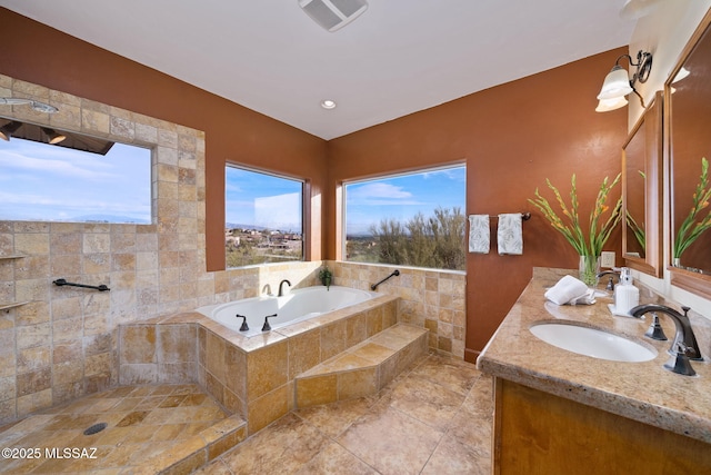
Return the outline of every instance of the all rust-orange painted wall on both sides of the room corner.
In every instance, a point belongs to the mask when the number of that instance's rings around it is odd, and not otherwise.
[[[334,196],[342,180],[464,160],[468,214],[533,211],[527,199],[534,189],[550,178],[567,194],[572,172],[584,204],[594,199],[604,176],[619,172],[627,136],[627,109],[593,110],[602,79],[624,49],[326,142],[2,8],[0,44],[0,73],[206,131],[208,270],[224,266],[228,160],[310,180],[314,208],[307,246],[309,257],[319,260],[339,255]],[[582,212],[587,216],[589,208]],[[540,214],[533,211],[524,224],[523,237],[523,256],[468,257],[470,360],[529,281],[532,267],[577,266],[572,247]],[[617,234],[607,249],[620,247]]]

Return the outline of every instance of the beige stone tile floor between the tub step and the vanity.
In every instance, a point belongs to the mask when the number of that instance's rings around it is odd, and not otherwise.
[[[377,396],[291,413],[198,473],[490,474],[491,386],[427,355]]]

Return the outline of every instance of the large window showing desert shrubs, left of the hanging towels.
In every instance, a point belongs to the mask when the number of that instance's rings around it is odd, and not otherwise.
[[[464,270],[465,177],[458,166],[346,184],[346,259]]]

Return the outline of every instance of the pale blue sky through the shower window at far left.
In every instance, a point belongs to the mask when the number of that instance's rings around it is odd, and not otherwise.
[[[0,140],[0,219],[150,222],[150,154],[121,144],[101,156]]]

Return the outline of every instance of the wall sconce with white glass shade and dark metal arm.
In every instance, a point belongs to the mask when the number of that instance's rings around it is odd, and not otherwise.
[[[635,67],[637,70],[632,76],[632,79],[629,78],[628,72],[620,66],[620,60],[622,58],[627,58],[630,67]],[[609,110],[619,109],[624,107],[628,102],[624,99],[624,96],[630,92],[634,92],[642,102],[642,107],[644,106],[644,100],[642,96],[634,89],[634,82],[647,82],[649,79],[649,73],[652,69],[652,53],[640,50],[637,53],[637,62],[632,61],[632,57],[630,55],[622,55],[614,62],[614,67],[604,78],[604,82],[602,83],[602,89],[598,95],[598,99],[600,102],[595,110],[598,112],[607,112]]]

